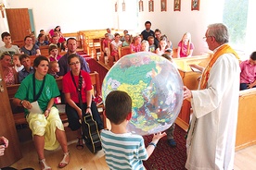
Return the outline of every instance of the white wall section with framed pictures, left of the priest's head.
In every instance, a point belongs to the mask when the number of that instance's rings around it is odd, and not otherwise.
[[[148,12],[148,1],[144,1],[144,12],[139,13],[139,28],[144,30],[144,23],[150,20],[152,30],[160,29],[166,34],[176,48],[185,32],[190,32],[195,45],[193,55],[209,52],[207,43],[203,41],[207,26],[222,21],[223,6],[221,0],[201,0],[199,11],[191,11],[191,0],[181,1],[181,11],[173,11],[173,0],[167,0],[167,11],[160,11],[160,0],[154,1],[154,12]]]

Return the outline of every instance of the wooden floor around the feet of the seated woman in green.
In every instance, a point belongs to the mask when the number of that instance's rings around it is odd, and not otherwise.
[[[93,154],[86,148],[86,146],[84,146],[83,150],[81,151],[77,150],[75,147],[77,143],[75,133],[70,131],[70,128],[67,128],[66,126],[64,127],[70,150],[70,164],[64,168],[61,168],[61,170],[109,170],[103,151]],[[23,158],[17,163],[12,164],[11,167],[17,169],[32,167],[35,170],[39,170],[40,165],[38,163],[37,153],[35,152],[33,146],[30,129],[24,128],[18,130],[18,133]],[[63,153],[60,147],[56,151],[45,151],[46,162],[52,167],[53,170],[60,169],[58,168],[58,163],[62,160],[62,158]]]

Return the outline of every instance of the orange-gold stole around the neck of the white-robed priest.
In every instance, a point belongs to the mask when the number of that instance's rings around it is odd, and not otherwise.
[[[210,77],[210,71],[211,71],[211,67],[214,65],[214,63],[216,62],[216,60],[219,58],[219,56],[224,55],[224,54],[233,54],[237,57],[237,59],[239,59],[237,53],[228,45],[228,44],[224,44],[223,46],[221,46],[211,57],[211,60],[208,64],[208,66],[204,69],[204,72],[202,73],[202,77],[201,77],[201,82],[200,82],[200,89],[205,89],[207,86],[207,81]]]

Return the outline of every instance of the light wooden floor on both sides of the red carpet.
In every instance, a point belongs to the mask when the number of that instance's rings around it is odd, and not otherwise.
[[[66,127],[66,126],[65,126]],[[63,170],[107,170],[108,165],[105,162],[104,152],[100,151],[96,154],[91,153],[85,146],[82,151],[76,149],[76,137],[75,134],[66,129],[67,139],[69,141],[70,150],[70,164],[68,164]],[[32,167],[34,169],[40,169],[37,160],[37,154],[35,152],[30,129],[25,128],[18,130],[19,140],[21,142],[21,151],[23,158],[17,163],[12,164],[15,168]],[[53,170],[59,169],[58,163],[62,159],[62,151],[60,149],[56,151],[45,151],[45,159]],[[255,170],[256,169],[256,145],[236,152],[235,157],[235,170]]]

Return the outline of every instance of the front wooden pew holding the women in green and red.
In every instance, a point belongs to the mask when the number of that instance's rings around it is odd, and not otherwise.
[[[99,95],[101,92],[101,88],[100,88],[100,83],[99,83],[99,75],[98,73],[95,71],[93,73],[90,73],[90,77],[92,80],[92,85],[94,86],[94,95]],[[56,79],[57,84],[58,84],[58,89],[61,91],[62,90],[62,79]],[[14,98],[15,93],[18,91],[19,89],[19,84],[15,84],[15,85],[10,85],[6,87],[6,90],[8,92],[8,97],[9,97],[9,101],[11,103],[12,109],[15,110],[15,106],[12,104],[12,99]],[[60,114],[60,118],[63,122],[67,121],[67,116],[65,113],[59,113]],[[24,113],[20,112],[20,113],[13,113],[14,116],[14,122],[16,125],[21,125],[21,124],[27,124],[27,121],[24,117]],[[102,113],[100,113],[100,116],[102,118],[102,120],[104,121],[104,125],[106,125],[106,120],[104,118],[104,116],[102,115]]]

